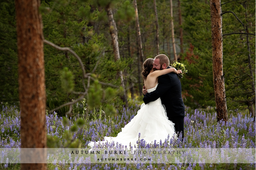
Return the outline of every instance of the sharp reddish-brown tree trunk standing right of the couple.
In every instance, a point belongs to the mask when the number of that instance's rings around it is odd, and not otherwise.
[[[228,120],[226,93],[223,75],[222,17],[220,0],[210,0],[212,28],[212,69],[217,121]]]

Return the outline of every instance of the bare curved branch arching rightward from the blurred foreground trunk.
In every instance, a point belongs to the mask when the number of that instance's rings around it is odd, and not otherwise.
[[[44,43],[56,48],[57,50],[61,50],[61,51],[68,51],[70,52],[71,54],[73,54],[73,56],[75,56],[77,58],[77,60],[79,61],[79,64],[80,64],[80,67],[82,69],[82,73],[83,73],[83,76],[82,76],[82,83],[83,83],[83,86],[84,86],[84,90],[86,90],[86,87],[85,87],[85,83],[84,83],[84,78],[86,78],[86,73],[85,73],[85,69],[84,69],[84,65],[83,65],[83,62],[81,60],[81,58],[77,55],[77,53],[75,53],[73,50],[71,50],[70,48],[68,47],[60,47],[60,46],[57,46],[56,44],[44,39]]]

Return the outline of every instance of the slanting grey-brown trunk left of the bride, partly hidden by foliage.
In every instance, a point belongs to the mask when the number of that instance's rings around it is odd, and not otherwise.
[[[111,35],[111,41],[113,45],[113,52],[115,56],[115,61],[120,60],[120,55],[119,55],[119,47],[118,47],[118,36],[117,36],[117,28],[115,24],[115,20],[113,18],[113,13],[112,13],[112,8],[110,7],[110,4],[107,5],[106,11],[108,14],[108,24],[109,24],[109,32]],[[124,79],[123,79],[123,73],[122,71],[117,72],[118,76],[121,78],[121,86],[123,87],[124,94],[123,94],[123,102],[125,102],[125,107],[128,107],[128,102],[127,102],[127,97],[126,97],[126,92],[125,92],[125,84],[124,84]]]

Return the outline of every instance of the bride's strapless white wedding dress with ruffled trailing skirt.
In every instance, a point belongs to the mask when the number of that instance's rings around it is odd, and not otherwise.
[[[148,89],[148,93],[156,90],[156,87]],[[140,140],[144,139],[146,143],[156,143],[162,140],[164,143],[168,135],[170,138],[175,134],[174,123],[168,120],[166,116],[166,111],[164,106],[161,103],[161,99],[158,98],[156,101],[152,101],[148,104],[142,104],[141,109],[138,110],[137,115],[125,125],[124,128],[121,128],[121,132],[117,134],[117,137],[104,137],[104,141],[98,141],[96,144],[116,143],[127,146],[129,144],[134,147],[137,147],[138,135],[140,133]],[[88,146],[91,148],[94,146],[95,142],[90,142]]]

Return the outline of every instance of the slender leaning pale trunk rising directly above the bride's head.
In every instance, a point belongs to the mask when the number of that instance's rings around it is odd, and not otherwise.
[[[137,31],[137,42],[139,46],[139,55],[141,58],[141,64],[144,62],[144,55],[143,55],[143,50],[142,50],[142,41],[141,41],[141,29],[140,29],[140,24],[139,24],[139,15],[138,15],[138,8],[137,8],[137,1],[133,1],[133,5],[135,8],[135,22],[136,22],[136,31]]]

